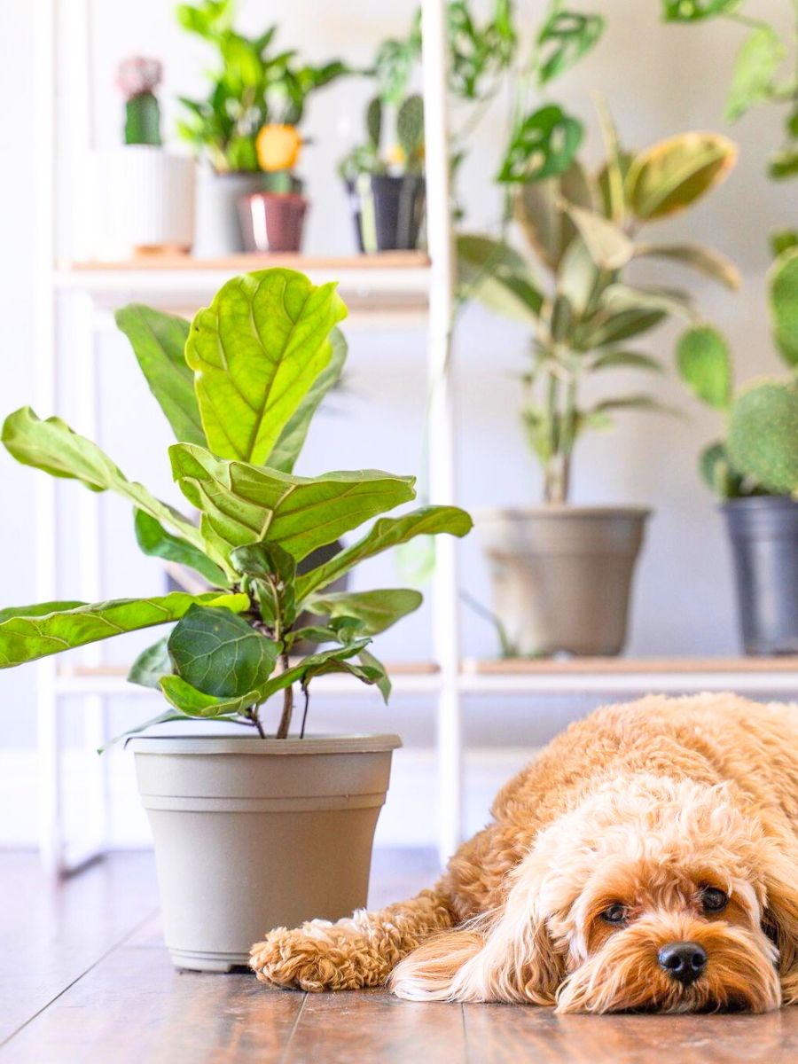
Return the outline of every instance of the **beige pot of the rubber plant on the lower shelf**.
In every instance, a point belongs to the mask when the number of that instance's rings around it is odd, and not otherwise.
[[[650,511],[546,505],[483,511],[494,610],[520,654],[619,654]]]

